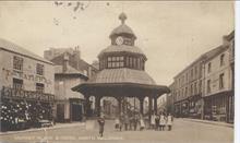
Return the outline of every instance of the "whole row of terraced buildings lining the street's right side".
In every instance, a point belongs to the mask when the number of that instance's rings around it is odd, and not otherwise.
[[[173,78],[168,109],[176,117],[233,122],[235,32]]]

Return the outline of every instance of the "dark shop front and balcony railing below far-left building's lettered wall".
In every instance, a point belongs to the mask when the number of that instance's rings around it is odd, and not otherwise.
[[[50,126],[55,96],[3,87],[1,91],[1,131]]]

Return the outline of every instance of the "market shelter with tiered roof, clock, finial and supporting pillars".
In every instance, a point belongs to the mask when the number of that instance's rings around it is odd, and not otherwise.
[[[110,45],[98,55],[99,71],[86,83],[81,83],[72,90],[84,95],[86,110],[89,108],[89,97],[95,96],[97,116],[101,112],[100,99],[103,97],[115,97],[118,100],[117,114],[119,115],[127,112],[124,105],[122,105],[125,97],[139,98],[139,109],[143,115],[144,98],[148,97],[151,120],[153,98],[154,111],[157,112],[157,98],[170,91],[167,86],[157,85],[145,72],[147,58],[141,48],[134,44],[136,36],[125,24],[127,15],[121,13],[119,20],[121,24],[109,36]]]

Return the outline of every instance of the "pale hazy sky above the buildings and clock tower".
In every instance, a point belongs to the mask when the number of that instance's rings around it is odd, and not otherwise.
[[[233,2],[0,2],[0,38],[39,56],[49,47],[81,47],[92,63],[110,45],[109,34],[120,25],[124,11],[148,60],[146,72],[157,84],[172,78],[203,52],[220,45],[235,25]],[[81,7],[80,7],[81,8]]]

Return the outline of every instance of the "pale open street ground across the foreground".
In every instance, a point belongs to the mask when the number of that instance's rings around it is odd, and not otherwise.
[[[67,123],[39,131],[1,134],[0,143],[232,143],[233,128],[203,123],[188,119],[175,119],[172,131],[117,131],[113,120],[106,120],[104,138],[98,134],[96,120],[85,123]]]

